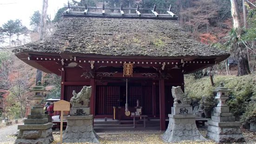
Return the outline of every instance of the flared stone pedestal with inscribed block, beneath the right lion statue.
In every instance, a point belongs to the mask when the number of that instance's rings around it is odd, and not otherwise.
[[[164,142],[180,142],[184,140],[206,140],[197,130],[196,115],[192,114],[190,105],[174,105],[169,114],[169,125],[163,135]]]

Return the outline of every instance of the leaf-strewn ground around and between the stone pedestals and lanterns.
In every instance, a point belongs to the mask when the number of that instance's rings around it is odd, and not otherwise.
[[[17,132],[17,124],[7,126],[0,129],[0,144],[14,144],[16,137],[11,136],[13,133]],[[200,133],[203,137],[206,136],[206,129],[199,128]],[[256,132],[251,132],[248,130],[242,130],[243,136],[246,140],[245,144],[256,144]],[[59,142],[59,132],[53,132],[54,141],[52,144],[57,144]],[[57,134],[56,134],[57,133]],[[162,134],[123,134],[126,132],[120,132],[118,135],[100,135],[101,144],[166,144],[163,142],[161,136]],[[129,133],[129,132],[128,132]],[[138,133],[141,133],[141,131]],[[150,133],[150,131],[147,131]],[[76,144],[90,144],[90,143],[76,143]],[[216,142],[209,140],[206,142],[198,141],[184,141],[178,144],[217,144]]]

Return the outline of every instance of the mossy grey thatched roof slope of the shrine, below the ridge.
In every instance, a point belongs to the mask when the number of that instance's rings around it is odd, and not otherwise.
[[[228,52],[190,39],[176,20],[64,17],[52,37],[18,52],[109,56],[224,56]]]

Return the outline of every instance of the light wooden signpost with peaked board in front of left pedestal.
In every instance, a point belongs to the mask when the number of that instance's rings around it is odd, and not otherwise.
[[[54,103],[53,111],[60,111],[60,136],[59,144],[62,143],[63,111],[70,111],[70,102],[59,100]]]

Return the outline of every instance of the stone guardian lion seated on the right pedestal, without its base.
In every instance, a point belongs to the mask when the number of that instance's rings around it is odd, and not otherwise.
[[[174,105],[178,104],[178,101],[181,102],[181,105],[190,105],[191,99],[188,98],[184,92],[182,92],[180,86],[172,86],[171,89],[172,97],[174,98]]]

